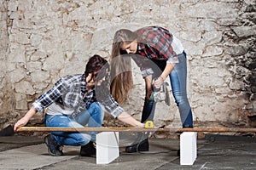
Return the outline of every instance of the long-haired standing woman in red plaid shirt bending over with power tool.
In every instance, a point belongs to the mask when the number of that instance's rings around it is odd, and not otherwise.
[[[193,117],[187,97],[187,61],[182,43],[173,34],[160,26],[143,27],[137,31],[121,29],[115,32],[111,59],[125,58],[124,54],[137,54],[132,59],[140,67],[146,85],[146,97],[141,122],[153,120],[155,102],[150,95],[170,77],[172,94],[177,104],[183,127],[193,127]],[[123,57],[122,57],[123,56]],[[140,57],[138,57],[140,56]],[[144,58],[144,59],[141,59]],[[147,65],[154,62],[161,72]],[[120,62],[122,63],[122,62]],[[126,62],[127,63],[127,62]],[[123,65],[115,65],[123,66]],[[117,101],[125,101],[132,88],[131,72],[113,77],[111,93]],[[125,89],[125,90],[124,90]],[[148,137],[126,147],[127,152],[148,150]]]

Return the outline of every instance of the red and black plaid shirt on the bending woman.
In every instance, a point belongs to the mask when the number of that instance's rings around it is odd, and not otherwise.
[[[177,54],[183,53],[183,45],[165,28],[148,26],[137,30],[137,54],[148,59],[166,60],[166,63],[178,63]],[[150,70],[147,61],[142,59],[137,65],[142,71]],[[150,72],[150,71],[149,71]]]

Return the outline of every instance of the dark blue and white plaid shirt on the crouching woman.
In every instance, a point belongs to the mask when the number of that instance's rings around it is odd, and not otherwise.
[[[66,76],[41,95],[32,106],[39,112],[48,108],[49,111],[46,112],[50,114],[79,114],[80,111],[86,110],[90,104],[97,101],[95,89],[84,97],[86,92],[84,74]],[[110,94],[101,104],[113,117],[119,116],[124,111]]]

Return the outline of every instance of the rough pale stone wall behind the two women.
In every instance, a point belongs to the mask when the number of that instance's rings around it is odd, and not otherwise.
[[[247,115],[256,112],[255,3],[0,0],[0,124],[24,116],[58,78],[84,72],[93,54],[109,59],[118,29],[153,25],[168,28],[183,42],[195,121],[247,123]],[[138,72],[124,107],[140,118],[144,87]],[[156,124],[180,125],[173,99],[171,106],[159,103],[155,117]]]

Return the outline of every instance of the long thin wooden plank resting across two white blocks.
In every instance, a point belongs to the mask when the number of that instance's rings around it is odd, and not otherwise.
[[[206,132],[206,133],[256,133],[256,128],[246,127],[194,127],[194,128],[158,128],[158,127],[20,127],[17,132]]]

